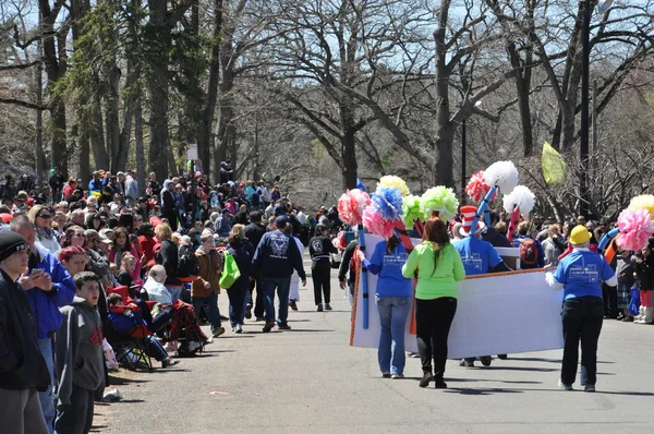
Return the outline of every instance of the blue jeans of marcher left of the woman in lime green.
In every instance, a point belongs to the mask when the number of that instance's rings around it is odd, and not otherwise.
[[[377,360],[382,372],[404,372],[404,330],[411,310],[411,297],[375,297],[382,334]]]

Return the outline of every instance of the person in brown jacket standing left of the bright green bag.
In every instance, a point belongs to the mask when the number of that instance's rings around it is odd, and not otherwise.
[[[222,258],[214,249],[211,234],[203,234],[199,242],[199,248],[195,251],[197,277],[191,286],[191,297],[193,298],[193,309],[198,317],[205,301],[207,302],[207,316],[211,323],[211,334],[217,338],[225,333],[218,310],[218,294],[220,293],[218,281],[220,273],[222,273]]]

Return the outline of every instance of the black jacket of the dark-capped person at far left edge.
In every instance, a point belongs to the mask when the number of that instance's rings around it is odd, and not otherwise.
[[[49,385],[27,294],[0,270],[0,388],[45,391]]]

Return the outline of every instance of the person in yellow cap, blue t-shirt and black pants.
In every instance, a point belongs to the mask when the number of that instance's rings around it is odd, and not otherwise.
[[[572,390],[577,376],[579,340],[581,339],[581,385],[595,391],[597,379],[597,340],[604,320],[602,282],[609,287],[618,279],[604,256],[589,250],[591,233],[577,226],[570,233],[572,253],[559,262],[554,273],[545,276],[554,289],[564,289],[564,360],[559,387]],[[554,268],[549,265],[546,269]]]

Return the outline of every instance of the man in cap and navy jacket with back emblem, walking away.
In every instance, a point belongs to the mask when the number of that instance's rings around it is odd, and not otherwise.
[[[302,286],[306,286],[306,274],[302,263],[302,255],[295,241],[283,232],[289,225],[286,216],[279,216],[275,220],[277,230],[266,232],[262,238],[256,252],[254,252],[254,268],[261,276],[264,286],[264,306],[266,311],[266,325],[264,333],[275,327],[275,289],[279,298],[279,318],[277,324],[282,330],[290,330],[287,323],[289,314],[289,290],[293,269],[302,279]]]

